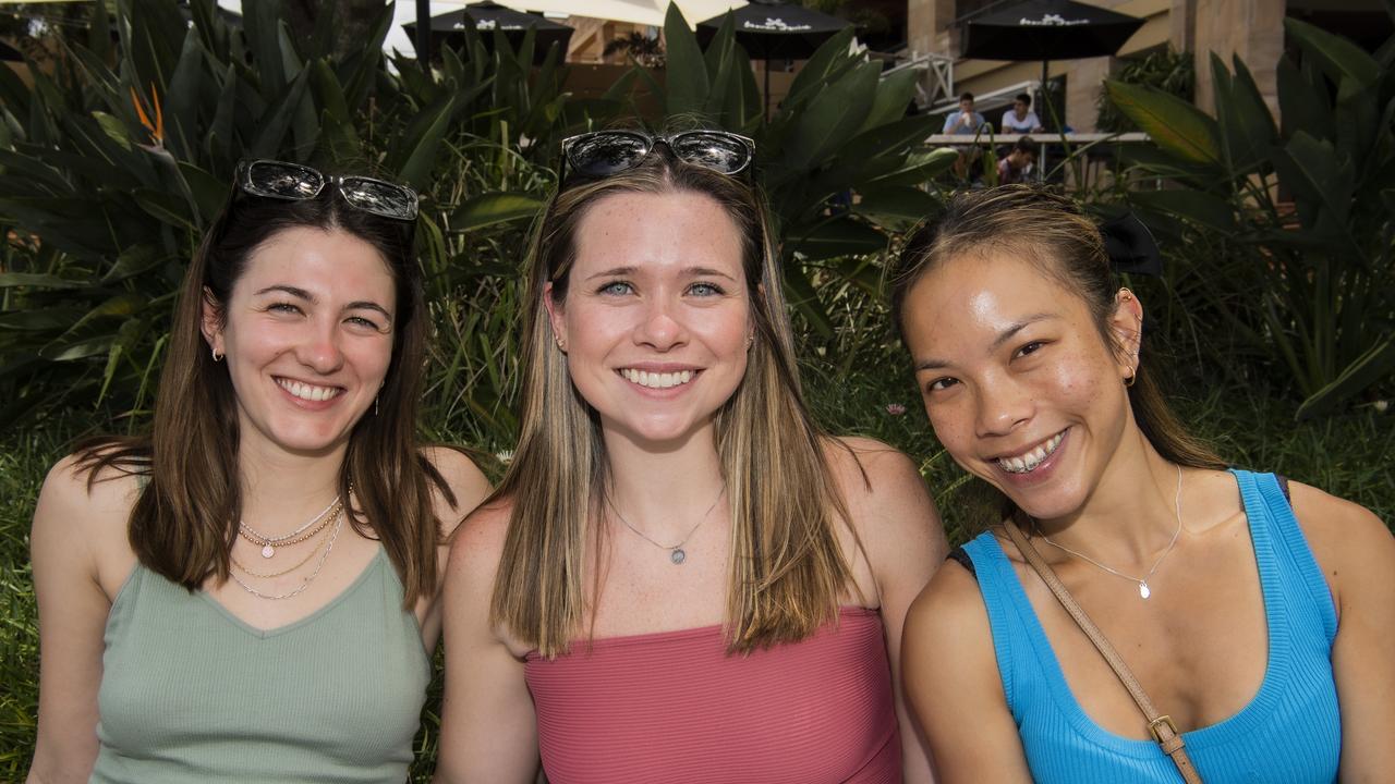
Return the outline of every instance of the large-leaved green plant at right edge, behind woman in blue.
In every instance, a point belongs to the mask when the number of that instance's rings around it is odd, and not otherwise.
[[[1285,20],[1282,123],[1249,68],[1212,57],[1216,116],[1155,88],[1106,82],[1158,151],[1165,190],[1133,202],[1230,257],[1207,296],[1235,333],[1279,357],[1300,417],[1332,412],[1395,370],[1395,42],[1375,56]],[[1335,88],[1335,89],[1334,89]]]

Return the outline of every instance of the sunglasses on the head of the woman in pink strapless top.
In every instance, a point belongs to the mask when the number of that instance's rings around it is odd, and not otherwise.
[[[728,131],[591,131],[562,140],[562,162],[582,177],[610,177],[639,166],[658,142],[674,158],[723,174],[745,172],[756,152],[756,142]]]

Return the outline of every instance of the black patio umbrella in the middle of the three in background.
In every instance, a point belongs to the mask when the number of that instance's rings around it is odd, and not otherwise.
[[[727,11],[737,21],[737,43],[752,60],[766,61],[766,114],[770,113],[770,60],[808,60],[826,40],[852,22],[783,0],[751,0]],[[727,14],[698,22],[698,39],[707,45]]]

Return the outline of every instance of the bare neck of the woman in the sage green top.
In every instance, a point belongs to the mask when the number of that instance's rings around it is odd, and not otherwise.
[[[278,536],[296,530],[339,495],[347,445],[325,455],[293,455],[248,441],[244,438],[239,449],[243,519],[258,532]]]

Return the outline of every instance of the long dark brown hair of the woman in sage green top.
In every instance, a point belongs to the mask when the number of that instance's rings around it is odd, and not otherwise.
[[[339,472],[340,498],[363,536],[382,541],[412,607],[437,583],[441,523],[431,484],[453,506],[455,495],[421,455],[417,406],[427,322],[413,227],[349,206],[335,188],[314,199],[276,201],[234,194],[194,255],[170,326],[151,431],[142,437],[100,437],[78,445],[88,485],[105,467],[140,474],[128,537],[151,571],[198,589],[209,576],[226,580],[229,554],[241,519],[237,398],[225,364],[213,361],[199,331],[202,303],[222,310],[251,254],[278,232],[308,226],[342,230],[372,246],[396,289],[392,361],[378,396],[378,413],[361,417],[349,435]]]

